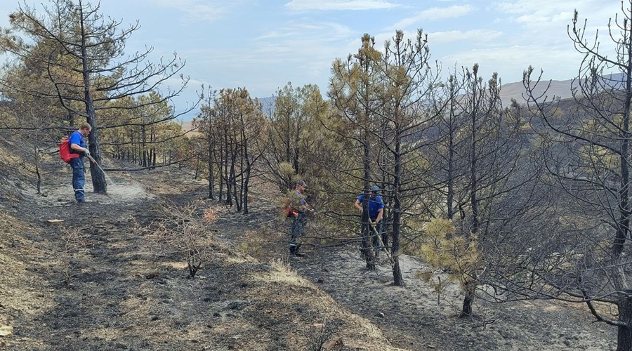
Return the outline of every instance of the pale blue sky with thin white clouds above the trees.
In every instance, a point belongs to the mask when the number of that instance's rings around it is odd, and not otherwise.
[[[47,4],[46,0],[38,0]],[[94,1],[95,3],[97,1]],[[0,26],[21,1],[0,1]],[[33,4],[27,1],[27,4]],[[454,67],[480,65],[483,77],[498,72],[504,83],[520,81],[529,65],[544,69],[545,79],[577,75],[582,56],[567,37],[574,9],[588,19],[588,39],[600,29],[612,51],[607,22],[621,2],[614,0],[102,0],[103,14],[141,28],[129,52],[153,46],[152,60],[173,52],[186,60],[187,91],[174,100],[176,110],[195,100],[201,84],[246,87],[267,97],[288,81],[317,84],[327,91],[331,62],[357,52],[362,34],[376,46],[396,29],[413,37],[428,34],[433,60],[443,75]],[[188,119],[192,118],[190,115]]]

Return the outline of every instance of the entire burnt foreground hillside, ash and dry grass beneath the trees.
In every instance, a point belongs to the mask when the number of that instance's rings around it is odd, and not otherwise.
[[[110,174],[107,195],[72,201],[68,166],[44,162],[43,194],[25,161],[0,145],[0,346],[3,350],[613,350],[616,329],[583,306],[480,300],[459,319],[456,286],[437,298],[401,256],[364,269],[355,246],[310,246],[287,258],[287,223],[272,193],[251,213],[204,199],[205,184],[176,168]],[[53,155],[55,156],[55,155]],[[112,162],[112,161],[108,161]],[[187,279],[185,258],[139,230],[164,207],[202,201],[209,255]],[[169,205],[171,206],[171,205]],[[48,220],[63,220],[59,225]],[[319,230],[310,218],[308,233]],[[69,283],[69,284],[66,284]]]

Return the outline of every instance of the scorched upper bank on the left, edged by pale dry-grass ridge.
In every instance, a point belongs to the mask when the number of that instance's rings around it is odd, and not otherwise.
[[[193,279],[181,252],[152,248],[138,227],[162,218],[166,204],[203,198],[204,183],[177,171],[112,174],[107,195],[88,182],[91,202],[76,204],[67,169],[46,176],[46,196],[29,185],[2,195],[0,348],[394,350],[287,260],[264,264],[220,239],[243,234],[247,216],[208,224],[209,256]],[[234,216],[215,201],[204,208]]]

